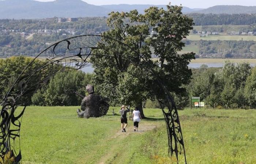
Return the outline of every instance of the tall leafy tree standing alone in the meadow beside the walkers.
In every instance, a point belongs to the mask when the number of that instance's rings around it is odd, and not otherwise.
[[[109,97],[112,104],[136,105],[143,116],[142,102],[147,98],[153,99],[154,94],[163,94],[156,89],[155,93],[151,90],[156,83],[148,71],[152,68],[169,91],[185,93],[181,86],[189,83],[192,73],[188,64],[195,54],[177,53],[185,46],[182,40],[193,25],[193,20],[182,15],[181,9],[181,6],[167,5],[167,10],[150,7],[144,14],[137,10],[109,14],[107,25],[110,30],[103,35],[128,46],[106,40],[105,48],[97,50],[97,53],[110,54],[113,58],[95,55],[91,62],[95,68],[93,81],[97,91]],[[151,62],[154,67],[148,68],[140,55],[151,60],[152,53],[159,60]]]

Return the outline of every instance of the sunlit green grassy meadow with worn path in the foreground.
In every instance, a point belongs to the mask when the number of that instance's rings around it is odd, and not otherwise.
[[[140,131],[133,132],[129,121],[122,133],[120,116],[109,112],[87,120],[77,118],[77,108],[27,107],[21,127],[23,163],[176,163],[167,155],[161,110],[145,109],[148,118]],[[187,109],[179,114],[189,164],[256,163],[256,110]]]

